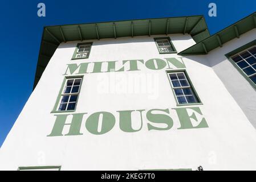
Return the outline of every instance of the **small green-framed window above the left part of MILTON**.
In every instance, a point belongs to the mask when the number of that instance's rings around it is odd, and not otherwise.
[[[91,47],[92,47],[91,42],[90,43],[79,43],[76,46],[76,49],[75,49],[72,59],[88,58],[90,55]]]

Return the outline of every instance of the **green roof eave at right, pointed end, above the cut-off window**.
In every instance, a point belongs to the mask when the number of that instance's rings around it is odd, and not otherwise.
[[[201,42],[197,42],[197,44],[179,52],[178,55],[206,55],[213,49],[222,47],[226,42],[229,42],[234,38],[239,38],[240,35],[245,34],[253,28],[256,28],[256,13],[253,13],[231,26],[224,28],[224,30],[201,40]]]

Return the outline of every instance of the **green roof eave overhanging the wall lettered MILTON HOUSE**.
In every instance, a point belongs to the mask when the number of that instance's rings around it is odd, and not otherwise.
[[[61,42],[181,33],[190,34],[195,42],[210,36],[202,15],[46,26],[43,28],[34,88]]]

